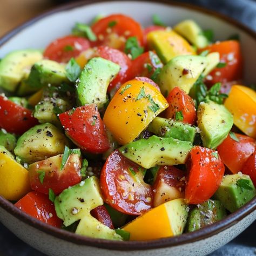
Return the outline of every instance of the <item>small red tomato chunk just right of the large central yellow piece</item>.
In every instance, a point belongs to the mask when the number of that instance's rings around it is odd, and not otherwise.
[[[194,106],[193,99],[185,91],[181,90],[178,86],[174,87],[166,99],[169,107],[165,110],[165,118],[175,120],[176,113],[181,111],[183,114],[181,122],[191,125],[196,123],[196,107]]]

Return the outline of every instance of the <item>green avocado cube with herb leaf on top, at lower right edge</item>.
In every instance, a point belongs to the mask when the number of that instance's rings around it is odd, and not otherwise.
[[[225,175],[214,198],[223,203],[224,207],[235,212],[256,196],[256,190],[250,176],[245,174]]]

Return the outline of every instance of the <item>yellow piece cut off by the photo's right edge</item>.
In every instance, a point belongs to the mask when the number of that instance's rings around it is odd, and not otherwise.
[[[224,105],[233,114],[234,124],[256,139],[256,92],[246,86],[233,85]]]

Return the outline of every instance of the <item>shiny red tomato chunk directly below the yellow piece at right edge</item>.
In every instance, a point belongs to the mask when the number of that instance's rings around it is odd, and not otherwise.
[[[249,136],[234,133],[239,139],[236,142],[228,134],[227,138],[221,143],[217,150],[221,160],[230,169],[232,173],[238,173],[244,167],[247,159],[253,154],[255,149],[255,140]]]

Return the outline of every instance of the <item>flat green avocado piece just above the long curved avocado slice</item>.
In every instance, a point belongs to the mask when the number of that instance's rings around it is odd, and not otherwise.
[[[162,117],[154,118],[147,129],[159,137],[172,137],[191,143],[194,142],[196,136],[195,127]]]

